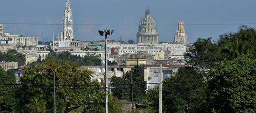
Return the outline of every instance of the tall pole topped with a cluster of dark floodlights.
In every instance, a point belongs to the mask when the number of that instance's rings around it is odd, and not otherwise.
[[[105,90],[105,100],[106,100],[106,108],[105,108],[105,112],[106,113],[109,113],[108,112],[108,105],[109,105],[109,103],[108,103],[108,87],[107,87],[107,85],[108,85],[108,49],[107,49],[107,42],[108,42],[108,40],[107,40],[107,35],[110,35],[110,30],[108,30],[108,29],[105,29],[105,31],[103,32],[103,31],[101,31],[101,30],[99,30],[98,31],[99,33],[100,33],[100,35],[101,36],[103,36],[104,35],[104,33],[105,33],[105,87],[106,87],[106,90]],[[112,32],[111,32],[111,34],[114,32],[114,30],[112,30]]]

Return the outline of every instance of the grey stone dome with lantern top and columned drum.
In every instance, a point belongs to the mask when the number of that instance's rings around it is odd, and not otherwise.
[[[148,8],[146,8],[146,16],[140,20],[137,43],[158,44],[155,19],[150,16],[150,10]]]

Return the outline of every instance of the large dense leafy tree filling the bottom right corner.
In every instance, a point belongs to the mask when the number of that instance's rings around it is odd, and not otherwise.
[[[256,60],[252,55],[238,55],[210,73],[209,89],[214,113],[256,112]]]

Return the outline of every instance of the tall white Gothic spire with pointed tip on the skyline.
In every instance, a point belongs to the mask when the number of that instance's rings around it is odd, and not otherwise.
[[[63,16],[63,27],[61,30],[61,40],[74,40],[74,30],[73,30],[73,18],[72,12],[69,4],[69,0],[66,0],[66,5],[64,9],[64,16]]]

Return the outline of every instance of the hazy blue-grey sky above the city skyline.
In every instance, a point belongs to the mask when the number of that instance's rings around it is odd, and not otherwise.
[[[61,32],[66,0],[0,0],[3,32],[52,41]],[[140,19],[150,9],[159,42],[172,42],[178,21],[189,42],[237,32],[240,24],[256,27],[256,0],[70,0],[74,39],[105,40],[98,30],[114,30],[110,40],[137,42]]]

